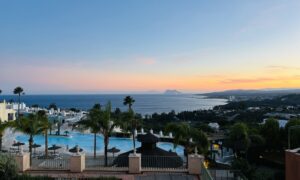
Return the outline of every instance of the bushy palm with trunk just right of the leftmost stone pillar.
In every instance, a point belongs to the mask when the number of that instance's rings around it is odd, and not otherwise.
[[[28,117],[22,118],[18,123],[15,124],[15,130],[23,132],[29,135],[29,152],[30,152],[30,165],[32,160],[32,145],[33,138],[37,134],[41,134],[44,131],[42,126],[44,117],[41,114],[30,114]]]

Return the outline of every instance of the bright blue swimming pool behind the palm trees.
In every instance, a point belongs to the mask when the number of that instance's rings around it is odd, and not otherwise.
[[[19,135],[16,137],[17,141],[24,142],[25,144],[28,144],[28,135]],[[36,135],[34,137],[34,143],[44,145],[45,144],[45,137],[43,135]],[[63,148],[66,148],[69,146],[69,148],[74,147],[75,145],[79,145],[80,148],[82,148],[85,152],[93,152],[94,151],[94,135],[93,134],[82,134],[79,132],[71,132],[69,137],[65,136],[48,136],[48,144],[49,146],[56,144],[58,146],[62,146]],[[127,152],[133,148],[132,145],[132,139],[129,138],[117,138],[117,137],[111,137],[109,138],[109,148],[116,147],[120,149],[122,152]],[[136,141],[136,147],[140,147],[141,143]],[[183,155],[183,147],[177,146],[174,149],[174,146],[172,143],[167,142],[159,142],[157,143],[157,146],[164,149],[164,150],[171,150],[173,152],[176,152],[178,155]],[[103,137],[102,135],[97,135],[97,152],[103,153],[104,152],[104,144],[103,144]]]

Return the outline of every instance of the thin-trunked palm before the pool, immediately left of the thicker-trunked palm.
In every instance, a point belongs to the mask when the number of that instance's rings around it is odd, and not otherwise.
[[[100,130],[98,119],[101,117],[101,106],[100,104],[95,104],[92,109],[89,110],[89,114],[86,118],[81,119],[76,123],[76,125],[81,125],[85,129],[90,129],[91,133],[94,134],[94,158],[96,158],[97,149],[97,133]]]

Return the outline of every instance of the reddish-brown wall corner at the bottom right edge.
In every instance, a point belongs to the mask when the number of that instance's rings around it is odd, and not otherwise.
[[[300,148],[285,151],[285,179],[300,179]]]

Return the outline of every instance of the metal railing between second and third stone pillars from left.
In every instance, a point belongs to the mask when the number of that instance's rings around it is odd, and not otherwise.
[[[128,171],[128,157],[107,157],[107,165],[105,165],[105,157],[93,156],[85,157],[86,170],[103,170],[103,171]]]

